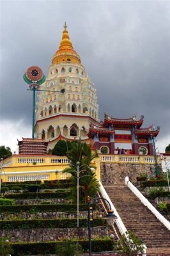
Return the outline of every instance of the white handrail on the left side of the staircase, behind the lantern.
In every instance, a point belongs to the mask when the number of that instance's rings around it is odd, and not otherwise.
[[[118,212],[116,211],[116,208],[114,207],[114,205],[112,204],[111,199],[107,195],[107,192],[105,191],[101,180],[98,180],[98,183],[100,184],[100,193],[102,194],[102,197],[109,201],[109,203],[111,204],[112,211],[114,211],[114,214],[118,217],[118,219],[116,219],[115,222],[116,222],[116,225],[117,225],[118,229],[120,230],[120,234],[121,235],[125,234],[127,232],[127,228],[123,224],[123,221],[121,220]]]

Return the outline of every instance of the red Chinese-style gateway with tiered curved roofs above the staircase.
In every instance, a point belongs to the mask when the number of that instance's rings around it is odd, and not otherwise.
[[[153,138],[159,127],[141,128],[143,119],[143,115],[137,120],[136,115],[120,119],[105,114],[104,122],[91,123],[88,136],[93,139],[93,147],[102,154],[153,155]]]

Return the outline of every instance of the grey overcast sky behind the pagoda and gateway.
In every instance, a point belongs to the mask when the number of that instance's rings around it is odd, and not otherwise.
[[[31,65],[47,75],[63,24],[97,88],[100,119],[144,115],[170,143],[169,1],[0,1],[0,145],[16,150],[31,138],[32,93],[22,79]]]

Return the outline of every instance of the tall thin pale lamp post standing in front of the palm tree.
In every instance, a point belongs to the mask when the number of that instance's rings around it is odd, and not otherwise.
[[[70,172],[73,172],[76,174],[77,177],[75,177],[75,179],[77,179],[77,232],[78,232],[78,228],[79,228],[79,179],[81,179],[82,177],[91,177],[91,175],[83,175],[80,176],[80,173],[82,172],[87,172],[87,170],[83,170],[82,168],[88,168],[91,171],[94,171],[94,168],[90,168],[87,164],[82,164],[79,161],[77,161],[76,166],[73,164],[70,164],[71,167],[73,167],[73,170],[71,170]],[[77,236],[77,245],[78,245],[78,236]]]

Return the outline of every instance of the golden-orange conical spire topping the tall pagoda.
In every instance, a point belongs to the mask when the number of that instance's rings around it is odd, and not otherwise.
[[[52,65],[59,63],[78,63],[81,64],[81,58],[79,54],[73,49],[72,41],[68,31],[66,30],[66,22],[63,30],[62,40],[59,45],[58,51],[54,54],[52,58]]]

